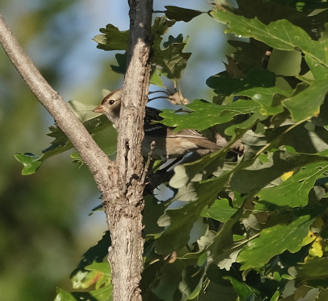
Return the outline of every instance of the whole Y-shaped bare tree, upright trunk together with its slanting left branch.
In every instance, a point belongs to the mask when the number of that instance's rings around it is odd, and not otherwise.
[[[111,162],[101,151],[62,97],[42,77],[0,15],[0,43],[10,61],[70,139],[103,193],[104,211],[112,236],[109,261],[114,301],[141,300],[141,212],[144,207],[141,142],[149,87],[153,0],[129,0],[129,5],[130,47],[116,162]]]

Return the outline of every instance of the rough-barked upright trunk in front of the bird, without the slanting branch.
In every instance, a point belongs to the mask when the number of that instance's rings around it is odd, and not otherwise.
[[[144,207],[144,183],[140,181],[143,172],[141,142],[150,76],[153,1],[129,0],[129,5],[129,51],[115,171],[118,172],[118,186],[104,193],[103,198],[112,235],[108,258],[112,267],[114,301],[142,299],[139,289],[143,253],[141,212]]]

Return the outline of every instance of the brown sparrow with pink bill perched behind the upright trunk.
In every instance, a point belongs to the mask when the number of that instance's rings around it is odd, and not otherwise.
[[[121,98],[123,89],[116,89],[109,93],[93,112],[103,113],[118,129],[121,110]],[[158,121],[163,120],[159,116],[160,110],[146,107],[144,120],[145,138],[142,142],[142,155],[147,157],[151,143],[155,142],[153,158],[162,161],[183,157],[189,152],[205,150],[207,152],[218,151],[221,147],[202,136],[196,130],[187,129],[173,133],[174,127],[168,127]]]

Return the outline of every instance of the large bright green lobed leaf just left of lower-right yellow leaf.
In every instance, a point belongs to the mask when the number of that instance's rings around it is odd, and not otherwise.
[[[291,253],[299,251],[312,223],[313,219],[304,215],[289,225],[281,224],[262,230],[260,236],[248,242],[238,254],[237,262],[242,263],[240,270],[260,268],[270,258],[286,250]]]

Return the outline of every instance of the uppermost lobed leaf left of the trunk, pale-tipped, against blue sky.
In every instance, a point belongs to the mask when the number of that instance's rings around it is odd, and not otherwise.
[[[98,43],[97,48],[103,50],[128,50],[129,30],[119,31],[112,24],[99,30],[103,34],[96,35],[93,40]]]

